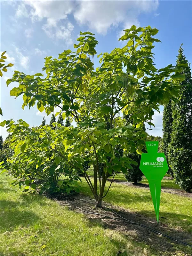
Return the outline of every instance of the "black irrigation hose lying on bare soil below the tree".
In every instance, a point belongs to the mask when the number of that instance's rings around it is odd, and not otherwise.
[[[81,201],[84,201],[84,202],[87,202],[87,203],[90,203],[90,204],[94,204],[94,203],[92,203],[92,202],[88,202],[88,201],[85,201],[85,200],[82,200],[82,199],[77,199],[77,200],[81,200]],[[67,200],[66,200],[66,201],[67,201]],[[70,201],[67,201],[67,202],[73,204],[73,203],[70,202]],[[112,217],[109,217],[109,216],[107,216],[107,215],[100,214],[100,213],[96,213],[96,212],[88,212],[88,211],[85,211],[85,210],[79,208],[79,207],[76,206],[75,204],[73,204],[73,205],[74,205],[76,208],[78,208],[79,210],[83,211],[83,212],[90,213],[90,214],[95,214],[95,215],[100,215],[100,216],[103,216],[103,217],[106,217],[106,218],[109,218],[109,219],[112,219],[112,220],[118,220],[118,221],[128,222],[128,223],[131,223],[131,224],[133,224],[133,225],[138,225],[138,226],[140,226],[140,227],[146,228],[146,229],[148,229],[148,230],[150,230],[150,231],[156,233],[157,235],[160,235],[160,236],[164,236],[164,237],[166,237],[166,238],[169,238],[169,239],[171,239],[171,240],[173,240],[173,241],[175,241],[175,242],[177,242],[177,243],[179,243],[179,244],[183,244],[183,245],[192,247],[192,244],[188,244],[188,243],[182,242],[182,241],[180,241],[180,240],[177,240],[177,239],[175,239],[175,238],[173,238],[173,237],[171,237],[171,236],[167,236],[167,235],[165,235],[165,234],[162,234],[162,233],[156,231],[155,229],[149,228],[149,227],[147,227],[147,226],[145,226],[145,225],[143,225],[143,224],[140,224],[140,223],[137,223],[137,222],[133,222],[133,221],[131,221],[131,220],[127,220],[127,219],[125,219],[124,217],[122,217],[121,215],[119,215],[118,213],[116,213],[115,211],[113,211],[111,208],[108,208],[107,206],[104,206],[104,207],[107,208],[107,209],[109,209],[111,212],[115,213],[116,215],[118,215],[120,218],[122,218],[122,219],[124,219],[124,220],[119,220],[119,219],[112,218]]]

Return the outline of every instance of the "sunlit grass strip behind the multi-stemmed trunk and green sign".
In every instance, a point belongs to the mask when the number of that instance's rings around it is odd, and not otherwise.
[[[93,182],[92,178],[91,180]],[[106,190],[109,184],[110,182],[107,181]],[[92,197],[84,178],[82,178],[80,190]],[[156,219],[149,189],[114,182],[103,201]],[[181,229],[192,234],[192,198],[162,192],[159,222],[167,224],[170,228]]]

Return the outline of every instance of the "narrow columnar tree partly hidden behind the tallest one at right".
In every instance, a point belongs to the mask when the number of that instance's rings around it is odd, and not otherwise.
[[[163,152],[168,161],[168,165],[169,165],[168,146],[171,143],[172,123],[173,123],[172,100],[169,100],[169,103],[164,106],[164,110],[163,110]],[[173,172],[170,168],[170,165],[169,165],[168,173],[170,173],[173,177]]]

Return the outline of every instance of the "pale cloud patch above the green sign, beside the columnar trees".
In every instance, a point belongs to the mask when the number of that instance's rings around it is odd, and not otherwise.
[[[155,127],[150,127],[150,125],[146,124],[146,128],[153,129],[153,131],[146,129],[146,132],[154,136],[163,136],[163,111],[160,111],[160,113],[157,111],[154,112],[155,114],[153,116],[153,120],[151,121],[151,123],[155,124]]]

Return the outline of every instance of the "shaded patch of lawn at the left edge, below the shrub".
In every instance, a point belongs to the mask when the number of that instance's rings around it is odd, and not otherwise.
[[[11,200],[0,200],[0,230],[17,225],[27,225],[36,222],[39,217],[29,211],[19,210],[18,206],[24,205]]]

